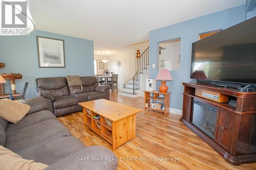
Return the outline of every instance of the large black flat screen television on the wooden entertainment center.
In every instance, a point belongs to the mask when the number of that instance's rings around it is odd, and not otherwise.
[[[256,17],[194,42],[190,78],[256,87]]]

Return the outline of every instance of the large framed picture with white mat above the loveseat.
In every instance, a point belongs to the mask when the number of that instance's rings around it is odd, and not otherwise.
[[[36,43],[40,68],[65,67],[64,40],[36,36]]]

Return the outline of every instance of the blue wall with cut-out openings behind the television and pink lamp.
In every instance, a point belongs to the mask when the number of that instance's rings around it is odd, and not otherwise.
[[[175,16],[171,16],[175,17]],[[246,5],[234,7],[224,11],[190,19],[168,27],[150,32],[150,77],[155,78],[158,68],[158,42],[181,38],[181,65],[180,70],[172,70],[173,81],[167,82],[171,94],[170,107],[182,108],[182,82],[190,81],[191,44],[199,40],[199,34],[213,30],[226,29],[246,19]],[[157,87],[160,82],[157,83]]]

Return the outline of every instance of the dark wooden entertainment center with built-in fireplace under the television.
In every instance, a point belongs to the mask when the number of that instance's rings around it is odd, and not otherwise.
[[[196,133],[228,163],[256,162],[256,92],[183,83],[183,112],[180,122]],[[236,106],[196,94],[196,89],[221,94]],[[198,90],[197,90],[198,91]]]

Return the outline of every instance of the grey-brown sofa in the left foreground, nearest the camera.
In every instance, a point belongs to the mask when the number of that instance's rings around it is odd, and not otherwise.
[[[64,89],[59,93],[66,94]],[[0,117],[0,145],[24,159],[49,165],[46,170],[117,168],[117,158],[112,151],[100,146],[84,147],[58,122],[48,102],[49,99],[42,97],[21,101],[31,108],[15,124]],[[89,157],[90,161],[79,161],[79,157]],[[102,157],[103,161],[93,161],[93,157]]]

